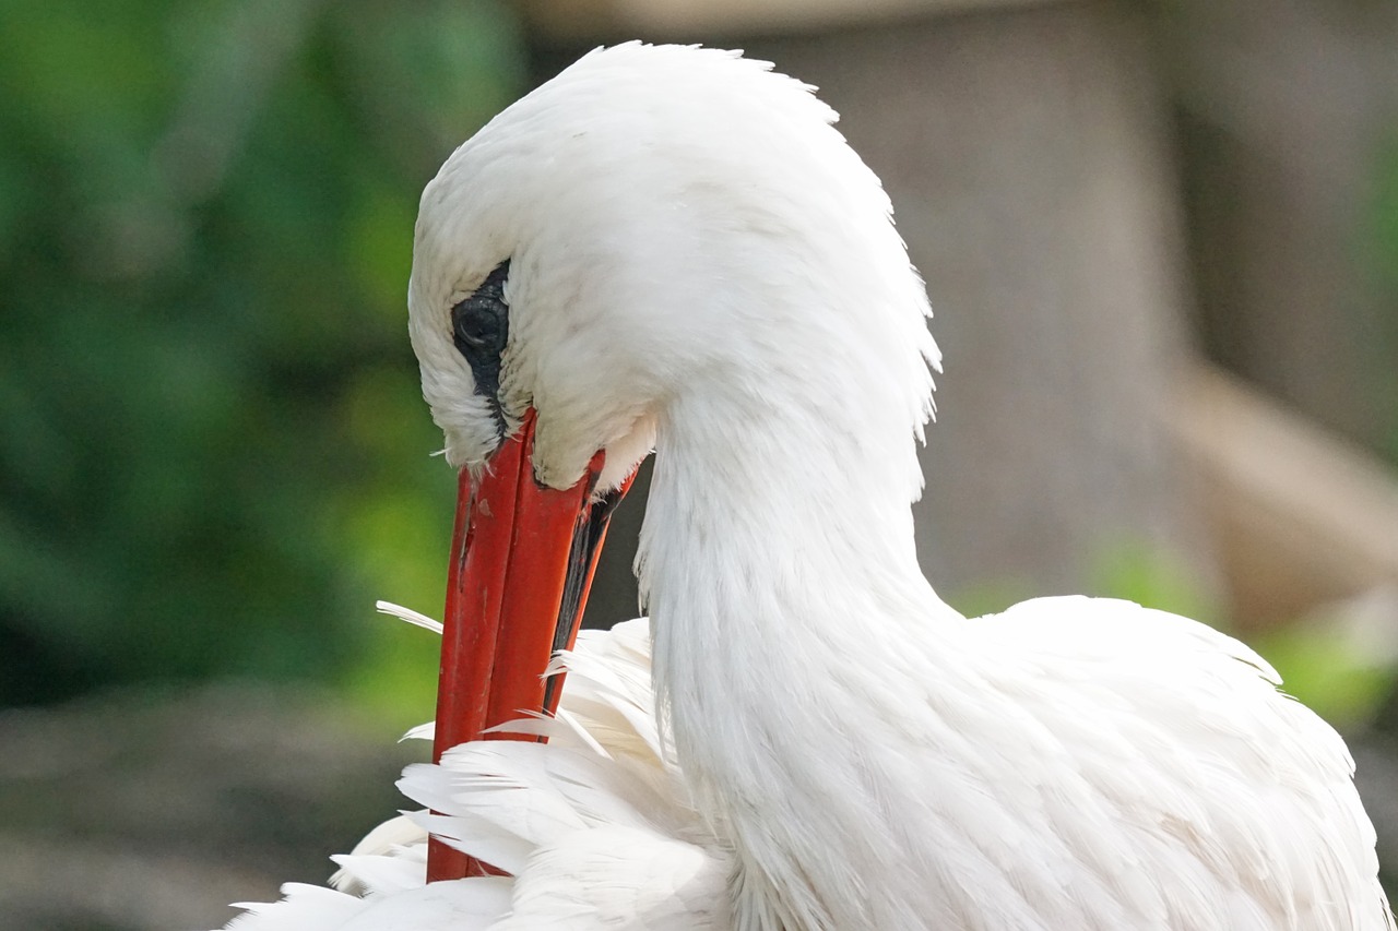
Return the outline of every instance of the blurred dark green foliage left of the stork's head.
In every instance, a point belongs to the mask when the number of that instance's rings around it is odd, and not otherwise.
[[[372,609],[433,611],[450,533],[412,222],[520,92],[517,24],[368,0],[3,18],[0,705],[247,674],[390,679],[429,713],[435,643]]]

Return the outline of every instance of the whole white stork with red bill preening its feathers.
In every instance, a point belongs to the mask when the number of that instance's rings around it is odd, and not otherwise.
[[[461,471],[439,762],[400,783],[431,812],[232,927],[1392,928],[1343,742],[1246,646],[924,580],[927,296],[809,89],[597,50],[428,185],[410,327]],[[545,685],[651,449],[650,622]]]

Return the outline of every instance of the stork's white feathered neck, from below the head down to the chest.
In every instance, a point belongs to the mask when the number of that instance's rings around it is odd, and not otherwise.
[[[832,760],[830,738],[858,732],[871,678],[891,714],[918,700],[930,671],[909,646],[959,615],[917,568],[906,419],[842,419],[878,408],[798,382],[762,398],[692,387],[660,424],[637,561],[660,720],[738,847],[740,927],[825,927],[790,851],[840,850],[868,816],[846,784],[861,763]],[[849,821],[818,826],[809,811],[833,798],[854,800]]]

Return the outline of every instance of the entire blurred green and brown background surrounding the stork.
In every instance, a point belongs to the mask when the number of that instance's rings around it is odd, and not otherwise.
[[[0,29],[0,914],[322,882],[431,716],[452,477],[417,194],[601,42],[738,46],[884,178],[946,356],[920,554],[967,614],[1240,632],[1398,865],[1398,3],[18,0]],[[637,489],[640,492],[642,489]],[[619,512],[591,623],[635,612]]]

